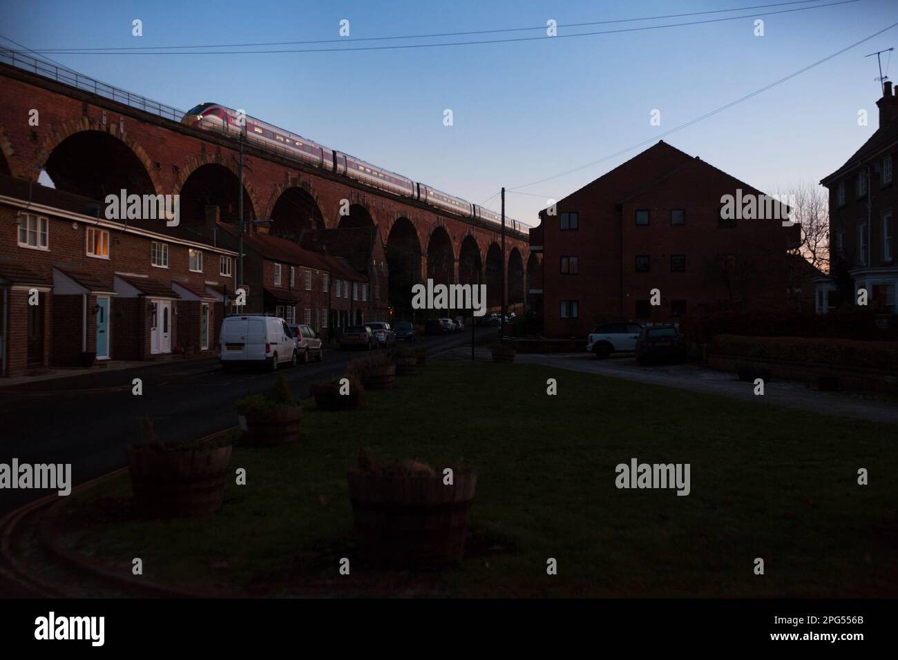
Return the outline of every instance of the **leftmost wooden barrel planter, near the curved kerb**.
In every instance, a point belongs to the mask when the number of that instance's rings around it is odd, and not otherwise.
[[[213,514],[225,497],[231,445],[163,450],[128,446],[136,510],[150,518]]]

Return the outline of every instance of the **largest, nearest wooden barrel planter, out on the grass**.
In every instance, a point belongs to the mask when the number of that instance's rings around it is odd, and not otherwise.
[[[356,535],[365,559],[396,566],[460,561],[477,475],[396,477],[348,472]]]

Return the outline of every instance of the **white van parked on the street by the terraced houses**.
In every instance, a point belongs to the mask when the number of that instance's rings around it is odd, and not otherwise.
[[[221,334],[225,371],[239,365],[296,364],[296,339],[284,319],[265,314],[225,316]]]

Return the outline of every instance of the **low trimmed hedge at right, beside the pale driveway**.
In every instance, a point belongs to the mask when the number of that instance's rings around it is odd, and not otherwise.
[[[898,373],[898,341],[718,335],[710,353]]]

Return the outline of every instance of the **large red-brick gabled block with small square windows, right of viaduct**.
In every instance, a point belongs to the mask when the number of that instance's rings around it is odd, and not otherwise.
[[[800,228],[783,226],[788,208],[770,198],[766,219],[745,219],[741,201],[756,199],[756,213],[762,195],[661,141],[543,209],[530,233],[531,251],[544,255],[542,282],[529,294],[541,296],[544,333],[675,322],[699,305],[784,306]]]

